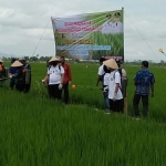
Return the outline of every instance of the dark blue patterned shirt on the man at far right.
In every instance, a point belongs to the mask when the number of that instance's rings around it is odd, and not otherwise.
[[[136,86],[135,93],[141,95],[148,95],[149,86],[151,84],[155,83],[155,77],[154,74],[148,70],[143,69],[136,73],[134,81]]]

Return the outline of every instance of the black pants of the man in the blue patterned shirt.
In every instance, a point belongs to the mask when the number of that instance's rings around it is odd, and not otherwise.
[[[147,116],[148,95],[139,95],[139,94],[135,94],[133,98],[133,107],[134,107],[135,116],[139,116],[138,104],[139,104],[141,98],[143,103],[143,116]]]

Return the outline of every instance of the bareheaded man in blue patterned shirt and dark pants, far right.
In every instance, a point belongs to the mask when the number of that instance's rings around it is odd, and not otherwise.
[[[143,102],[143,116],[144,117],[147,116],[149,87],[152,91],[152,97],[154,96],[155,77],[154,74],[149,72],[147,69],[148,69],[148,62],[143,61],[142,70],[138,71],[134,77],[136,90],[133,98],[133,106],[134,106],[134,113],[136,117],[139,117],[138,104],[141,98]]]

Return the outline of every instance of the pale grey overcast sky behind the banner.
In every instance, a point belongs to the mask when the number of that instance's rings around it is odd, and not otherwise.
[[[125,60],[165,60],[166,0],[0,0],[0,52],[54,55],[52,17],[124,7]]]

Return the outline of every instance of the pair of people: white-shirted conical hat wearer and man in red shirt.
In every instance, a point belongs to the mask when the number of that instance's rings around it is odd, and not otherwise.
[[[46,85],[49,96],[54,100],[62,98],[64,92],[64,103],[69,103],[69,84],[72,81],[71,68],[65,63],[65,58],[53,56],[46,62],[46,75],[42,82]]]

